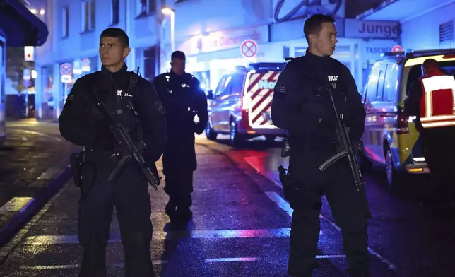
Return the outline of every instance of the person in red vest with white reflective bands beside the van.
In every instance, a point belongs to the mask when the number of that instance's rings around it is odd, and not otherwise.
[[[416,117],[427,166],[437,184],[445,187],[442,193],[453,206],[455,190],[449,180],[455,179],[455,80],[441,71],[435,59],[425,59],[422,73],[408,90],[404,112]]]

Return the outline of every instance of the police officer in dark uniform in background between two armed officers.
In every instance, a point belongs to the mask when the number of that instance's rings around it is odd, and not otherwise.
[[[162,155],[165,191],[169,195],[165,210],[177,228],[183,228],[192,218],[191,192],[197,167],[194,133],[202,134],[208,121],[206,94],[199,80],[185,73],[185,62],[183,52],[173,52],[171,71],[153,80],[167,114],[167,144]],[[199,123],[194,120],[196,115]]]

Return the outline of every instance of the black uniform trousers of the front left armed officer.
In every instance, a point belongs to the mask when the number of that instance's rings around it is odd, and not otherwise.
[[[150,258],[153,228],[148,183],[132,161],[124,165],[115,182],[109,182],[119,159],[119,155],[105,152],[89,152],[86,158],[78,211],[78,238],[83,247],[80,277],[107,276],[106,247],[114,206],[124,247],[125,276],[155,276]],[[90,189],[93,174],[97,179]]]

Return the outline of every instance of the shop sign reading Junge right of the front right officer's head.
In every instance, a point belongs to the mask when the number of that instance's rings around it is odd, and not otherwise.
[[[398,38],[401,33],[398,21],[345,19],[345,37]]]

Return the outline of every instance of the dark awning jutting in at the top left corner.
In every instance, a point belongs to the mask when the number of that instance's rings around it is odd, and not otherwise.
[[[49,35],[46,24],[18,0],[0,1],[0,30],[12,47],[41,46]]]

